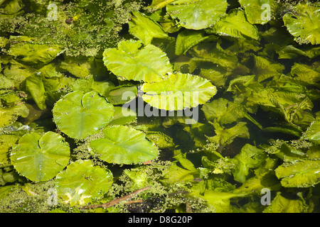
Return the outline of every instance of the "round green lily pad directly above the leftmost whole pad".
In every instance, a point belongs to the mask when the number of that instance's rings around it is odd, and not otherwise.
[[[53,107],[53,120],[59,130],[76,139],[98,133],[113,114],[114,106],[97,92],[71,92]]]

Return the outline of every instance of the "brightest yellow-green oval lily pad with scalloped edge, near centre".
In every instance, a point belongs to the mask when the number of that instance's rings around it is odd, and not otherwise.
[[[170,74],[162,82],[142,86],[144,101],[157,109],[169,111],[193,108],[205,104],[217,92],[208,79],[191,74]]]

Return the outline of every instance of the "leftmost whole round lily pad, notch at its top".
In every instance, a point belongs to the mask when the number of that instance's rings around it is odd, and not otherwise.
[[[64,138],[53,132],[28,133],[12,148],[11,164],[21,175],[35,182],[55,177],[68,165],[70,148]]]

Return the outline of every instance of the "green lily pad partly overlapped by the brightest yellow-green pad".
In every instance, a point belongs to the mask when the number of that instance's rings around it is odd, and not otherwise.
[[[125,40],[118,43],[118,49],[106,49],[103,52],[105,66],[118,79],[161,81],[172,70],[169,58],[154,45],[149,44],[144,48],[141,46],[141,41]]]

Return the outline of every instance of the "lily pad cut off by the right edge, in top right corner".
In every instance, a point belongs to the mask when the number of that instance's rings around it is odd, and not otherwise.
[[[320,44],[320,7],[309,2],[294,6],[294,12],[284,14],[284,26],[298,43]]]

